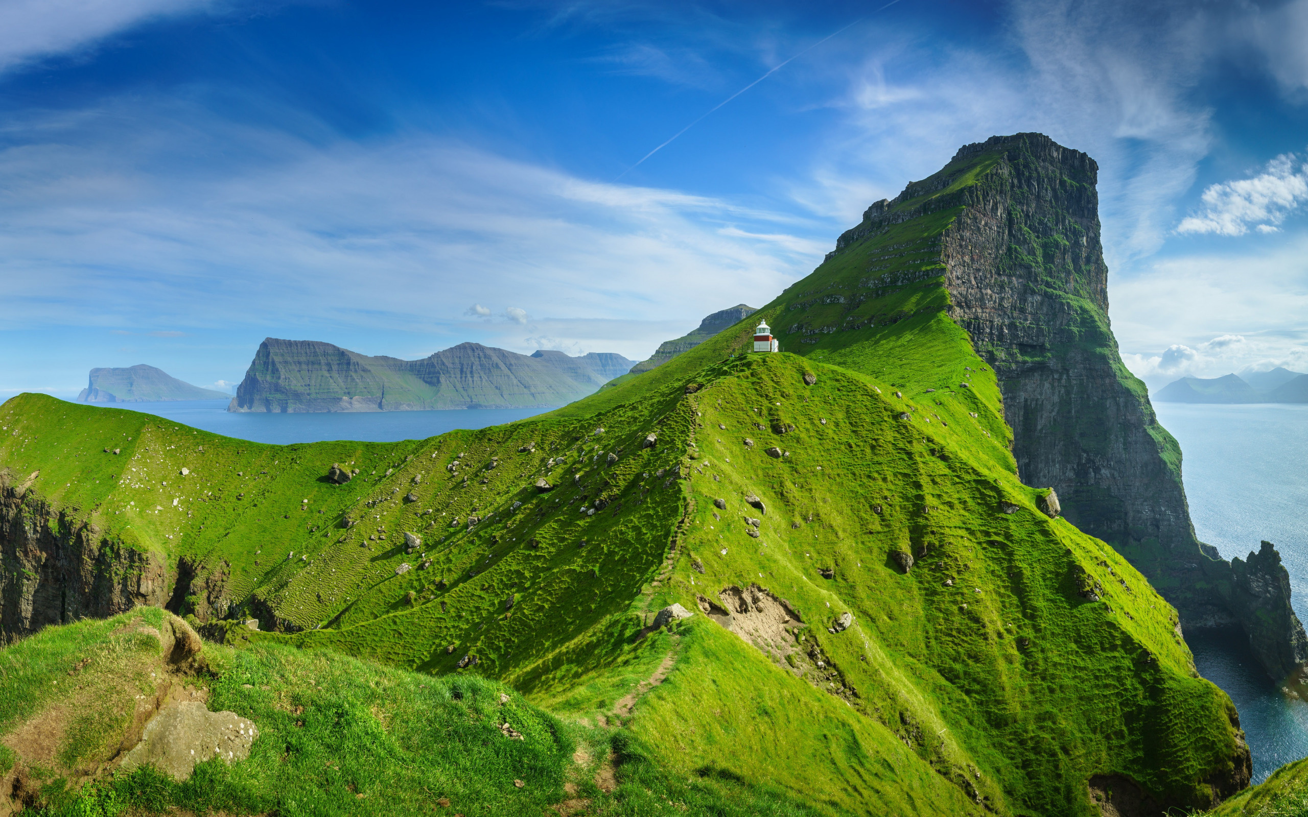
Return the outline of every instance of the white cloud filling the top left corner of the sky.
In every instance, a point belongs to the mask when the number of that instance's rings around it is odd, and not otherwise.
[[[216,0],[5,0],[0,3],[0,72],[89,46],[129,26],[196,12]]]

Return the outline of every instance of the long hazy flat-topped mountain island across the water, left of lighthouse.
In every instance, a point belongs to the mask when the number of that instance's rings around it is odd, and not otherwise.
[[[579,400],[630,369],[620,354],[518,354],[459,344],[419,361],[369,357],[314,340],[268,337],[229,412],[395,412],[548,408]]]

